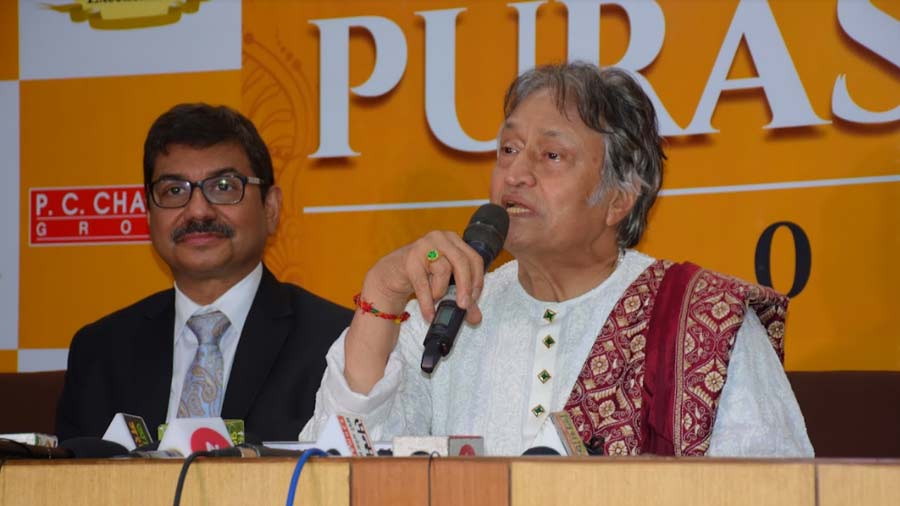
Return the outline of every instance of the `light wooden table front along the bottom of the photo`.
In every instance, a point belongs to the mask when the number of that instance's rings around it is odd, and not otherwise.
[[[198,460],[182,504],[284,504],[292,459]],[[6,461],[0,505],[172,504],[181,461]],[[328,458],[297,505],[900,505],[900,460]]]

